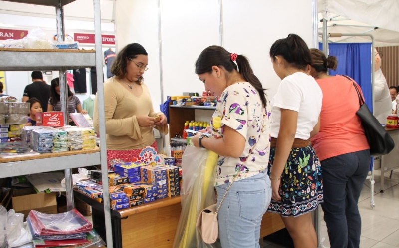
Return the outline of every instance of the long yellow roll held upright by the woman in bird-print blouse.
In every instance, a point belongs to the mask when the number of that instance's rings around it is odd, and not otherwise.
[[[221,118],[220,117],[213,117],[212,118],[212,125],[214,129],[219,129],[221,128]],[[214,135],[212,135],[214,136]],[[220,137],[220,136],[219,136]],[[189,211],[189,218],[187,219],[187,225],[185,228],[185,232],[183,235],[182,242],[180,243],[179,248],[186,248],[187,245],[192,244],[192,240],[194,238],[194,234],[196,231],[196,222],[198,218],[199,212],[204,209],[205,207],[208,206],[203,206],[204,199],[206,192],[208,191],[209,185],[211,184],[212,186],[214,185],[214,182],[211,182],[210,179],[212,178],[213,173],[215,173],[215,167],[217,164],[217,159],[219,158],[219,155],[214,153],[213,151],[208,152],[208,158],[206,159],[206,164],[203,172],[204,176],[204,183],[203,185],[196,185],[196,186],[202,186],[202,189],[200,192],[202,193],[201,200],[202,202],[198,204],[198,192],[194,190],[193,191],[193,197],[192,197],[192,202],[190,204],[191,208]]]

